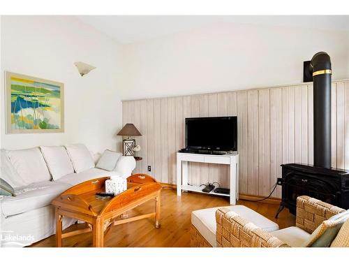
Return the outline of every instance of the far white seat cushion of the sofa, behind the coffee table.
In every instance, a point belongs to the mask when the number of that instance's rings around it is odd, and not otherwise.
[[[94,178],[98,177],[109,177],[111,175],[117,175],[117,173],[109,172],[99,168],[90,168],[80,173],[65,175],[64,177],[61,177],[59,180],[57,180],[57,182],[62,182],[70,184],[71,186],[75,186],[75,184],[80,184],[87,180],[93,180]]]

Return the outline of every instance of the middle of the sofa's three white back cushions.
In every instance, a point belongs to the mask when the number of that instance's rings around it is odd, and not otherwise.
[[[74,173],[73,164],[71,163],[66,147],[52,146],[52,147],[40,147],[43,157],[47,163],[47,167],[50,170],[53,180],[59,180],[64,175]]]

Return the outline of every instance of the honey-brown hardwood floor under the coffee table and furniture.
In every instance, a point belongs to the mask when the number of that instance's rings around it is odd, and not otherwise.
[[[154,219],[112,226],[105,234],[105,247],[190,247],[191,212],[202,208],[214,208],[229,205],[228,198],[207,196],[204,194],[184,193],[176,195],[174,189],[163,189],[161,196],[161,228],[155,228]],[[279,219],[274,219],[279,205],[239,201],[265,217],[275,221],[280,228],[295,225],[295,216],[283,210]],[[136,214],[151,212],[154,202],[148,202],[128,212],[131,217]],[[74,224],[64,232],[84,228],[84,224]],[[75,235],[63,240],[63,247],[91,247],[91,233]],[[54,235],[31,245],[31,247],[54,247]]]

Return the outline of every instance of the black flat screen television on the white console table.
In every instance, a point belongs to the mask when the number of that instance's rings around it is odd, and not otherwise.
[[[186,118],[186,148],[237,151],[237,117]]]

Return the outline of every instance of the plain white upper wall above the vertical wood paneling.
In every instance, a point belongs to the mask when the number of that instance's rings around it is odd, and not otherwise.
[[[123,100],[298,84],[319,51],[331,56],[333,80],[349,78],[345,31],[222,23],[123,50]]]

